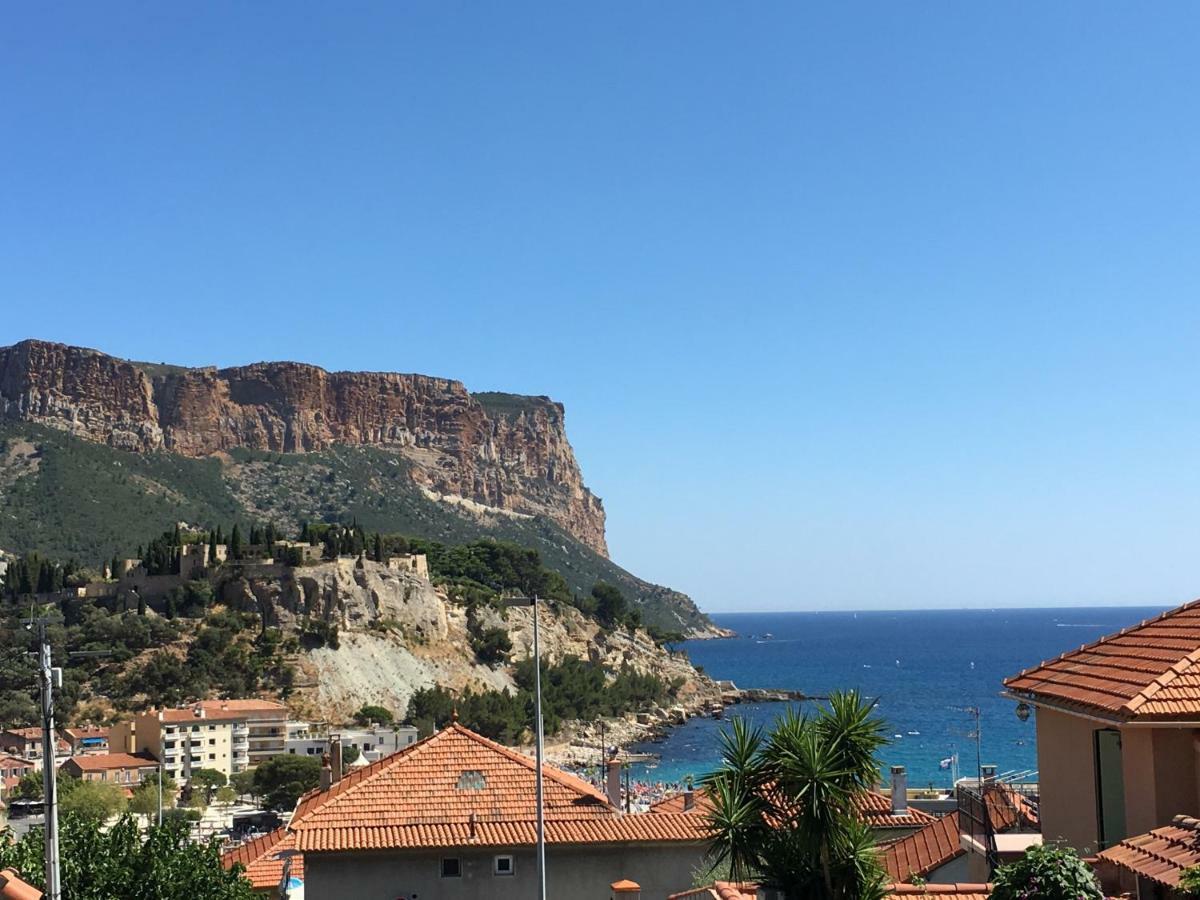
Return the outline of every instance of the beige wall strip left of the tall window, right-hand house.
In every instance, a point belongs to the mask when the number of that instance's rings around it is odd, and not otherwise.
[[[1098,722],[1038,708],[1038,782],[1042,834],[1085,853],[1096,852],[1096,749]]]

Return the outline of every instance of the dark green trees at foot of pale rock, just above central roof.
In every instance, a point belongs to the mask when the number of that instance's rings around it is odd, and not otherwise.
[[[505,744],[518,743],[532,728],[534,708],[534,668],[530,660],[516,666],[517,692],[470,690],[460,696],[442,688],[416,691],[408,704],[408,720],[428,734],[450,722],[454,710],[458,721],[485,737]],[[623,715],[665,701],[671,686],[655,676],[623,668],[607,677],[600,666],[564,656],[558,665],[542,662],[542,721],[547,733],[554,733],[566,719],[595,719]]]

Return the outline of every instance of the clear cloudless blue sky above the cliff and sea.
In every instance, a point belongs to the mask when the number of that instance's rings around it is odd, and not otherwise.
[[[0,343],[550,394],[713,611],[1200,594],[1195,4],[0,17]]]

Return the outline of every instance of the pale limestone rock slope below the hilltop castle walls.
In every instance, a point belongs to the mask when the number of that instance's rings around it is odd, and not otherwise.
[[[236,578],[223,584],[221,599],[284,630],[304,617],[338,626],[337,649],[322,647],[298,660],[299,690],[289,701],[298,714],[341,721],[365,702],[403,710],[421,688],[514,686],[510,668],[475,661],[463,606],[427,581],[370,560],[340,559],[288,570],[282,577]],[[571,607],[545,610],[541,616],[547,660],[571,654],[610,672],[629,665],[668,683],[682,680],[674,702],[688,710],[720,702],[712,679],[686,656],[656,647],[644,631],[606,632]],[[533,640],[528,608],[509,610],[503,619],[496,612],[487,617],[486,626],[509,631],[514,660],[528,655]]]

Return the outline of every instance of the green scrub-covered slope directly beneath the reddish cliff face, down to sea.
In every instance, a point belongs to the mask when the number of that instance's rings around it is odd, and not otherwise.
[[[576,593],[606,581],[660,628],[708,623],[685,595],[635,577],[550,520],[478,514],[427,498],[407,462],[386,450],[236,450],[221,462],[125,452],[41,426],[0,424],[0,550],[10,553],[96,564],[132,554],[146,535],[180,521],[272,521],[290,532],[306,520],[350,518],[367,530],[446,544],[490,536],[536,547]]]

